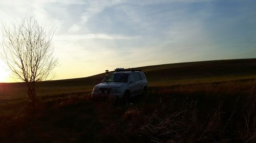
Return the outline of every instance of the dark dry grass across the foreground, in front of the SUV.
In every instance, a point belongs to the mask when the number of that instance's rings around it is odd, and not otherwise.
[[[131,104],[90,91],[0,103],[2,142],[255,142],[256,81],[151,86]],[[42,89],[41,92],[44,92]],[[71,89],[66,89],[65,92]],[[84,91],[83,91],[84,90]],[[75,91],[75,89],[74,89]],[[57,92],[60,92],[57,94]]]

